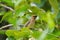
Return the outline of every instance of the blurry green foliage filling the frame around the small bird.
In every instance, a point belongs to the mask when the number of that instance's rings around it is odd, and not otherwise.
[[[60,0],[0,0],[1,15],[0,23],[13,24],[5,32],[8,40],[60,40]],[[22,28],[32,15],[37,16],[34,29]]]

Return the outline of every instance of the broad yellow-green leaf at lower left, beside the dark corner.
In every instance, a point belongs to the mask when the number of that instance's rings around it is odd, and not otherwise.
[[[20,34],[20,31],[17,30],[7,30],[5,33],[9,38],[14,37],[15,39],[20,38],[22,35]]]

